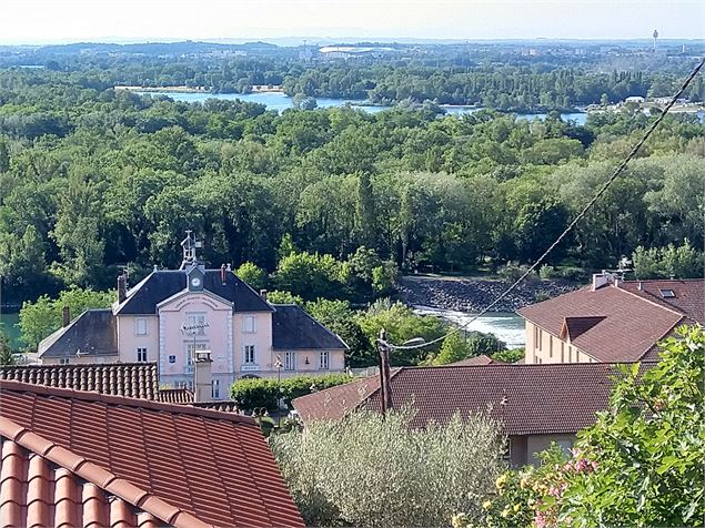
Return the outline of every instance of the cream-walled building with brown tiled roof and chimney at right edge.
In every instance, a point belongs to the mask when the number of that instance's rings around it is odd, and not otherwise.
[[[526,322],[524,362],[613,363],[658,359],[658,341],[683,324],[705,324],[705,280],[593,284],[517,311]]]

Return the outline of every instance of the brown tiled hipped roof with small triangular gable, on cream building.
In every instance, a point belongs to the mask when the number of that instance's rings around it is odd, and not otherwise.
[[[675,307],[613,284],[595,291],[584,287],[517,313],[558,337],[567,325],[570,343],[604,363],[639,361],[659,339],[686,322],[684,313]]]

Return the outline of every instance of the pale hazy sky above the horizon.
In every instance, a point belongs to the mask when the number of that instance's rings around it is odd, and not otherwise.
[[[705,38],[704,0],[0,0],[0,43]]]

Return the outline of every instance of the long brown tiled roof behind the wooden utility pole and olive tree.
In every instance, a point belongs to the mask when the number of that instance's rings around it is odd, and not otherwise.
[[[489,413],[505,434],[574,434],[608,407],[614,364],[401,367],[392,373],[392,404],[416,410],[413,424],[447,422],[455,413]],[[357,408],[381,412],[379,377],[293,400],[302,420],[340,419]]]

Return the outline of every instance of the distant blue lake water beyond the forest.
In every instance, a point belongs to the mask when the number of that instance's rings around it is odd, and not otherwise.
[[[292,99],[282,92],[259,92],[259,93],[210,93],[210,92],[152,92],[152,91],[134,91],[140,95],[164,95],[173,99],[174,101],[183,101],[188,103],[202,103],[207,99],[223,99],[226,101],[246,101],[250,103],[264,104],[268,110],[276,110],[281,112],[283,110],[292,108]],[[365,112],[375,113],[383,110],[389,110],[392,106],[373,105],[366,101],[351,101],[345,99],[330,99],[330,98],[316,98],[315,102],[319,108],[335,108],[350,104],[354,109],[364,110]],[[477,106],[464,106],[464,105],[451,105],[441,104],[441,108],[450,115],[463,115],[467,113],[477,112],[482,110]],[[585,124],[587,114],[584,112],[562,113],[561,118],[564,121],[575,121],[577,124]],[[544,120],[545,113],[527,113],[517,114],[516,119],[520,120]]]

